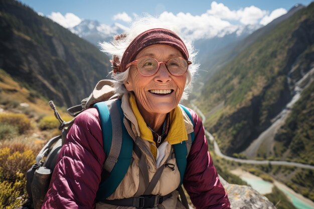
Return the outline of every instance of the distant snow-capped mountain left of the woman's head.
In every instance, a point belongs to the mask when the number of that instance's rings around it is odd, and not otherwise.
[[[83,20],[79,25],[69,28],[72,33],[95,46],[98,46],[99,42],[110,41],[112,36],[121,34],[125,29],[126,27],[118,23],[108,26],[91,20]]]

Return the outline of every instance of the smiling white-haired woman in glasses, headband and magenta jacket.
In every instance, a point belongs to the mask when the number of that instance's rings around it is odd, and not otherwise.
[[[133,148],[132,160],[117,188],[106,199],[95,200],[108,153],[103,148],[99,113],[89,108],[79,114],[67,135],[42,208],[185,208],[178,200],[182,179],[173,146],[188,140],[192,132],[185,189],[196,208],[230,207],[208,152],[202,121],[188,109],[191,121],[178,105],[187,97],[185,89],[198,68],[193,63],[195,53],[174,29],[154,26],[155,22],[151,18],[135,22],[114,41],[102,44],[103,51],[113,57],[116,82],[112,94],[121,100],[128,134],[142,144],[137,150],[144,157],[148,179],[143,180],[142,158]],[[146,181],[147,186],[162,166],[165,168],[147,195],[141,182]],[[147,203],[147,196],[158,200]],[[140,198],[145,204],[138,202]]]

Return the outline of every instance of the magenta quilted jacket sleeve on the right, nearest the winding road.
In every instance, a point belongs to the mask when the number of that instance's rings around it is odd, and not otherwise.
[[[195,139],[187,158],[183,184],[196,208],[230,208],[227,193],[222,186],[208,151],[204,127],[197,114],[194,119]]]

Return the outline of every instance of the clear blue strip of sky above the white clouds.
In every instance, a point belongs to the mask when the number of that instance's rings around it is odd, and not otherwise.
[[[191,13],[193,16],[206,13],[211,8],[213,1],[186,1],[186,0],[160,0],[160,1],[112,1],[112,0],[19,0],[30,6],[36,12],[43,13],[45,16],[52,12],[59,12],[62,15],[73,13],[81,19],[98,20],[104,24],[113,24],[113,16],[125,12],[130,17],[135,13],[149,13],[152,16],[158,16],[163,12],[178,14],[179,12]],[[271,13],[275,9],[283,8],[289,10],[295,4],[308,5],[309,0],[264,0],[264,1],[216,1],[228,7],[231,11],[243,9],[245,7],[255,6],[263,11]]]

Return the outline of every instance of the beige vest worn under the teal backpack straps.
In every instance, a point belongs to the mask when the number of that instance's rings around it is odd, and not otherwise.
[[[156,170],[159,168],[159,166],[165,166],[165,162],[167,161],[169,155],[171,154],[171,144],[169,144],[167,141],[164,142],[166,144],[162,144],[159,146],[159,159],[157,160],[158,163],[156,163],[156,160],[152,156],[150,149],[149,149],[149,142],[146,140],[140,139],[140,132],[138,128],[138,124],[135,118],[135,115],[133,114],[133,111],[129,104],[129,96],[123,95],[122,97],[122,110],[124,112],[124,125],[126,130],[128,131],[129,135],[132,137],[132,139],[135,141],[135,143],[138,145],[138,147],[141,149],[142,154],[145,156],[145,161],[148,168],[148,176],[149,176],[149,182],[151,181],[151,178],[155,174]],[[185,126],[187,129],[187,133],[193,132],[193,124],[191,123],[189,117],[186,115],[184,110],[182,110]],[[140,171],[139,171],[139,158],[133,151],[132,153],[132,162],[116,188],[116,190],[107,198],[108,200],[111,199],[122,199],[122,198],[128,198],[133,197],[135,194],[136,196],[141,195],[144,192],[145,188],[140,188],[140,179],[142,179],[142,176],[140,177]],[[165,167],[163,170],[163,173],[152,190],[151,194],[159,194],[159,195],[167,195],[172,192],[172,196],[168,199],[164,200],[162,204],[154,207],[154,208],[182,208],[185,207],[181,204],[180,201],[178,201],[177,197],[179,195],[178,191],[176,190],[180,183],[180,172],[176,164],[176,158],[175,156],[172,156],[172,158],[167,162],[175,164],[175,169],[171,169],[169,167]],[[96,203],[96,209],[100,208],[114,208],[114,209],[131,209],[135,207],[127,207],[127,206],[116,206],[116,205],[110,205],[107,203]]]

